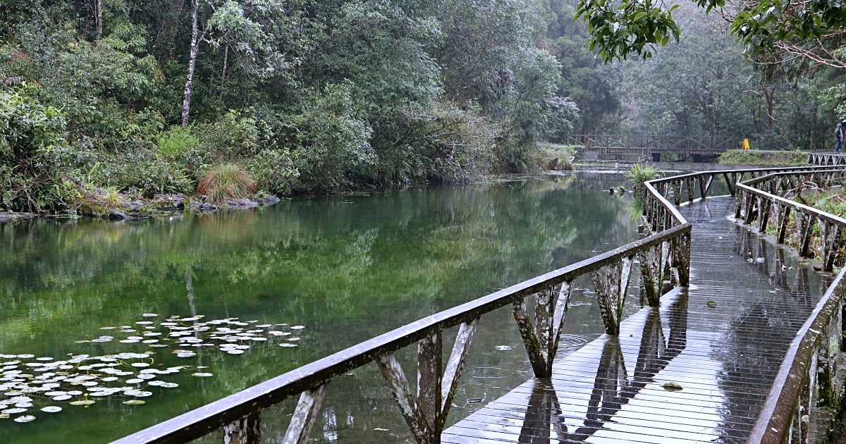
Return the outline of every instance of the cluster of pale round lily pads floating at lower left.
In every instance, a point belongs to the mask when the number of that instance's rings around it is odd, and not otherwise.
[[[110,332],[93,339],[75,343],[138,344],[142,348],[173,348],[179,359],[198,354],[244,354],[255,344],[267,345],[281,340],[284,348],[297,347],[297,332],[305,326],[288,324],[259,324],[259,321],[240,321],[238,318],[201,321],[202,315],[170,316],[162,321],[155,313],[145,313],[145,320],[131,325],[103,326]],[[113,332],[112,332],[113,331]],[[89,407],[93,398],[126,397],[126,405],[142,405],[141,397],[150,397],[159,388],[174,388],[178,383],[167,381],[168,375],[193,370],[194,377],[211,377],[203,365],[172,365],[165,367],[157,360],[157,352],[120,352],[91,355],[69,354],[70,358],[56,359],[35,354],[0,354],[0,419],[14,417],[25,423],[36,419],[36,411],[55,414],[63,411],[58,404]]]

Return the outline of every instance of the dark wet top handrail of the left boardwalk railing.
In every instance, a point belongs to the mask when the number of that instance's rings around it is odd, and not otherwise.
[[[718,174],[739,174],[739,177],[742,178],[744,173],[763,173],[797,168],[801,167],[717,170],[682,174],[670,178],[657,178],[645,182],[645,196],[656,201],[670,215],[670,220],[668,221],[670,223],[668,226],[664,226],[666,229],[662,229],[658,233],[640,238],[629,244],[624,244],[600,255],[581,260],[575,264],[549,271],[527,281],[519,282],[479,299],[474,299],[448,310],[442,310],[436,314],[426,316],[423,319],[398,327],[363,343],[344,348],[335,354],[318,359],[308,365],[290,370],[283,375],[263,381],[241,392],[234,393],[213,403],[191,410],[188,413],[168,419],[133,435],[125,436],[116,442],[127,444],[136,442],[190,441],[205,436],[211,430],[220,429],[229,423],[244,418],[247,414],[279,403],[287,397],[315,389],[317,386],[322,386],[338,375],[343,375],[348,373],[349,370],[375,361],[384,354],[390,354],[400,348],[420,342],[442,329],[459,324],[464,326],[464,323],[471,319],[478,319],[481,315],[489,313],[492,310],[513,304],[520,299],[550,288],[551,286],[554,287],[563,282],[570,282],[575,277],[583,276],[591,271],[598,271],[604,266],[613,265],[625,258],[632,258],[634,255],[654,249],[658,245],[662,245],[673,239],[683,236],[689,237],[689,233],[691,232],[690,223],[684,219],[676,206],[667,200],[662,192],[656,189],[657,184],[665,184],[673,181],[678,182],[679,180],[684,181],[684,179],[693,177],[704,178],[707,175],[716,177]],[[830,167],[805,168],[830,169]],[[678,199],[678,195],[676,197]],[[683,285],[685,284],[683,283]]]

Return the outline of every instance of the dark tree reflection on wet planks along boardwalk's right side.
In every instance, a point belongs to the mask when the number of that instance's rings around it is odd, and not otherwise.
[[[784,249],[775,248],[745,227],[735,230],[734,253],[739,255],[739,267],[744,268],[738,274],[748,276],[750,283],[764,279],[776,291],[744,293],[722,347],[712,345],[712,358],[722,362],[723,369],[717,375],[717,385],[726,398],[719,427],[722,436],[717,442],[741,442],[749,436],[772,385],[772,375],[822,294],[811,292],[810,271],[789,259]],[[817,281],[824,288],[825,282]]]

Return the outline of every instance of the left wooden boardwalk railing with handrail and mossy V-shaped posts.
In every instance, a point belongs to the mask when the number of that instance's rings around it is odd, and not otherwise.
[[[807,168],[807,167],[806,167]],[[826,169],[829,167],[818,167]],[[698,188],[705,197],[714,178],[731,181],[791,168],[764,168],[692,173],[660,178],[645,184],[644,217],[651,230],[644,238],[508,288],[427,316],[391,332],[316,360],[283,375],[261,382],[214,403],[153,425],[119,443],[185,442],[223,430],[225,442],[259,442],[261,411],[289,397],[299,396],[283,438],[286,443],[308,439],[332,380],[362,365],[376,363],[393,393],[415,441],[439,442],[464,359],[482,316],[510,306],[523,338],[532,370],[538,377],[552,374],[552,362],[569,306],[574,280],[590,276],[596,290],[602,321],[608,334],[616,335],[633,266],[640,265],[645,303],[656,306],[671,285],[687,285],[689,278],[690,224],[668,200],[680,203],[683,189],[694,200]],[[795,169],[795,167],[794,167]],[[698,181],[698,182],[697,182]],[[458,328],[446,362],[442,361],[443,332]],[[395,353],[417,346],[416,391],[398,364]]]

